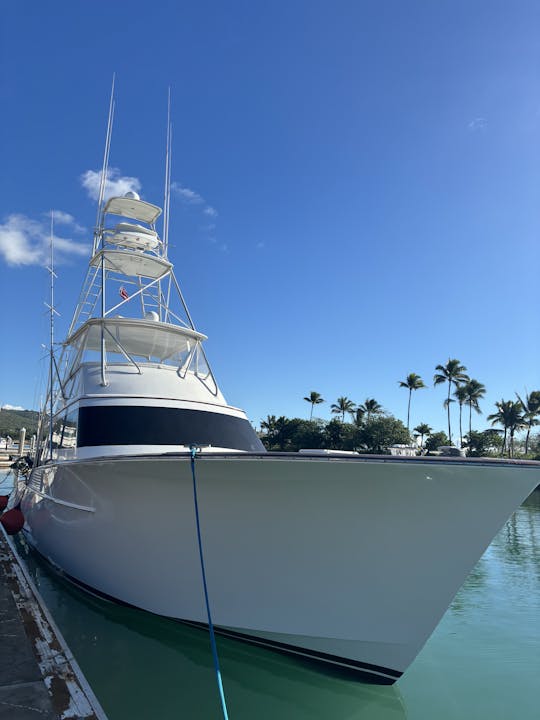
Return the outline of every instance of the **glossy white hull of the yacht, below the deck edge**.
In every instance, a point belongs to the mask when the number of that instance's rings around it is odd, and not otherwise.
[[[215,625],[391,683],[540,466],[230,454],[198,457],[196,475]],[[42,466],[22,509],[79,583],[206,622],[188,456]]]

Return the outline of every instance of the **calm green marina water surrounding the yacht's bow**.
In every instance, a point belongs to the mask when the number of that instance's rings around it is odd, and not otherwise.
[[[205,632],[93,598],[22,549],[109,720],[222,717]],[[393,687],[232,640],[218,638],[218,650],[230,720],[537,720],[540,492],[506,523]]]

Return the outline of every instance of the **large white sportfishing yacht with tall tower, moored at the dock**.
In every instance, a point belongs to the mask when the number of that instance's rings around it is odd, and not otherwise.
[[[216,631],[391,684],[540,463],[266,452],[209,368],[160,213],[102,203],[21,484],[26,536],[93,593],[205,625],[196,445]]]

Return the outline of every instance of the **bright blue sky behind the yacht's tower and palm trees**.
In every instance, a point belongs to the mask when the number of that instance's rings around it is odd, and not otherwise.
[[[5,4],[0,403],[39,403],[51,209],[59,337],[71,317],[113,72],[115,179],[158,204],[172,88],[170,257],[253,422],[308,416],[311,390],[325,418],[346,395],[405,419],[398,381],[449,357],[487,387],[476,427],[540,388],[539,23],[520,1]],[[444,429],[444,396],[415,393],[413,425]]]

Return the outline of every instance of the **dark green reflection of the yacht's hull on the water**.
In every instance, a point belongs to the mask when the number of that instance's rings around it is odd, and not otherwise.
[[[40,592],[109,720],[218,718],[206,633],[79,591],[20,544]],[[218,639],[235,720],[403,720],[396,686],[333,676],[290,657]]]

